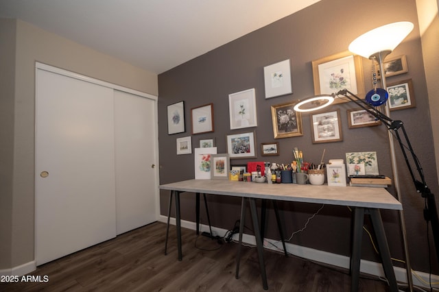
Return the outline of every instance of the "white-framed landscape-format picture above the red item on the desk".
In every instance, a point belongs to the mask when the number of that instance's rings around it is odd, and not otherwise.
[[[233,158],[256,157],[254,132],[227,135],[227,153]]]

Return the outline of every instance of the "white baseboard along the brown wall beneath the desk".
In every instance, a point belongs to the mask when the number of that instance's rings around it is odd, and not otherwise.
[[[161,215],[158,221],[167,222],[167,216]],[[169,223],[176,225],[176,219],[171,217]],[[195,222],[191,221],[181,221],[181,226],[191,230],[196,230]],[[204,224],[200,225],[200,232],[209,232],[209,226]],[[212,226],[213,235],[224,236],[227,230],[222,228],[216,228]],[[238,240],[238,234],[233,235],[233,240]],[[243,243],[256,245],[256,240],[253,235],[243,234]],[[276,250],[277,252],[283,252],[282,242],[275,241],[273,239],[264,239],[264,247],[269,250]],[[299,256],[300,258],[306,258],[307,260],[313,260],[318,263],[324,263],[327,265],[333,265],[335,267],[342,267],[344,269],[349,269],[350,258],[347,256],[341,256],[340,254],[332,254],[330,252],[324,252],[322,250],[314,250],[309,247],[303,247],[300,245],[294,245],[292,243],[285,243],[287,252],[289,254],[294,254],[294,256]],[[372,276],[377,276],[384,278],[384,271],[381,263],[372,262],[370,260],[361,260],[360,264],[361,273],[368,273]],[[400,267],[394,267],[396,281],[401,283],[407,283],[407,272],[405,269]],[[413,284],[418,287],[425,287],[429,289],[429,274],[422,271],[412,271]],[[439,282],[439,276],[431,275],[431,282]],[[438,284],[433,285],[434,288],[439,288]]]

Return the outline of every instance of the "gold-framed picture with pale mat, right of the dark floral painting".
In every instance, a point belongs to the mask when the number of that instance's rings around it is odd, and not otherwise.
[[[340,109],[333,112],[311,114],[310,117],[313,143],[343,141]]]

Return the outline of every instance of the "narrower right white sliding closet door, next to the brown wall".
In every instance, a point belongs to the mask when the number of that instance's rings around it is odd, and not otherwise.
[[[156,218],[155,101],[115,90],[117,234]]]

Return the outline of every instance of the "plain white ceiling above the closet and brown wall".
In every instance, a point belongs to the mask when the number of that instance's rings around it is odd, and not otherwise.
[[[0,18],[159,74],[318,1],[0,0]]]

